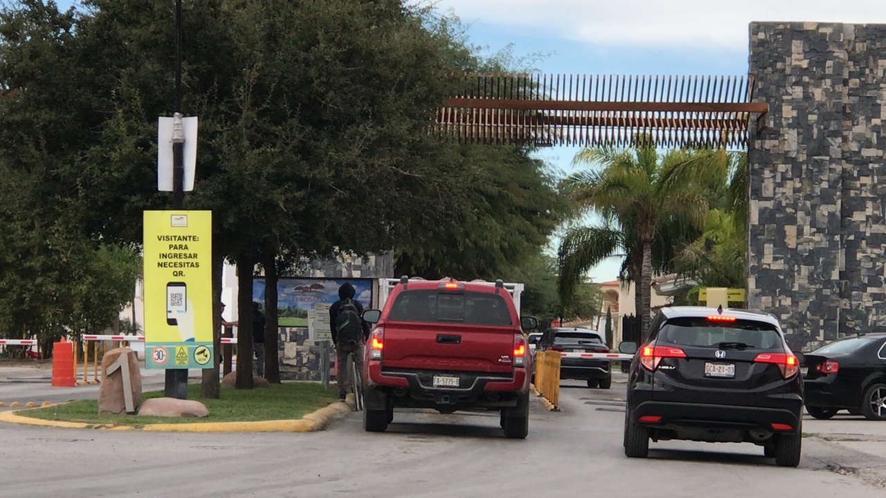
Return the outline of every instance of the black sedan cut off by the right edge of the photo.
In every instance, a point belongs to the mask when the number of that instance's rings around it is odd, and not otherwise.
[[[886,334],[839,338],[806,354],[801,372],[809,415],[830,418],[846,409],[886,420]]]

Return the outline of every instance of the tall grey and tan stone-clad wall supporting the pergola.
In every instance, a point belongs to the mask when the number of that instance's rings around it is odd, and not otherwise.
[[[750,24],[748,304],[791,346],[886,327],[886,25]]]

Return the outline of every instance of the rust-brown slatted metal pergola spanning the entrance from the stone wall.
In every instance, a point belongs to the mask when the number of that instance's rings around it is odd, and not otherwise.
[[[741,147],[754,77],[450,74],[459,90],[440,106],[435,132],[475,144]]]

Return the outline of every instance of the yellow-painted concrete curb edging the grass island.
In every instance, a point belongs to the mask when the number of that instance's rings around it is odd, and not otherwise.
[[[350,401],[350,400],[349,400]],[[353,401],[351,401],[353,403]],[[0,422],[10,424],[64,427],[68,429],[106,429],[111,431],[160,432],[317,432],[323,431],[339,418],[353,411],[352,404],[335,401],[298,420],[262,420],[259,422],[206,422],[205,424],[146,424],[141,427],[115,424],[85,424],[60,420],[43,420],[17,415],[17,411],[0,412]]]

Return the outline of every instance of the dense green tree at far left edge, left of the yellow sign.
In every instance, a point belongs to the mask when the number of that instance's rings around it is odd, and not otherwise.
[[[82,143],[98,121],[72,88],[74,12],[27,0],[0,7],[0,335],[103,331],[133,297],[134,245],[82,230]]]

